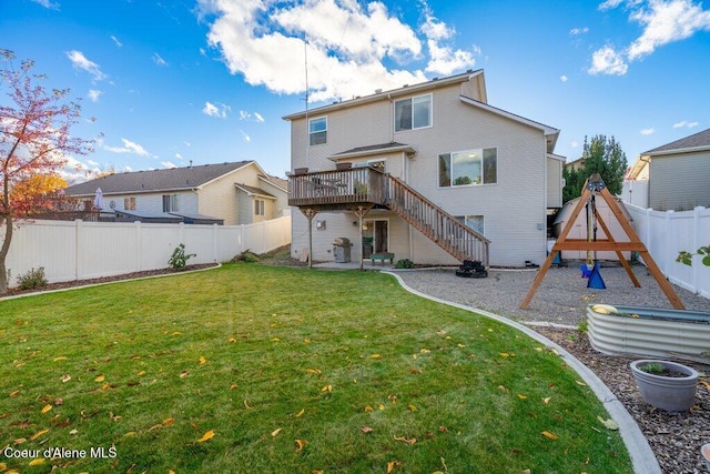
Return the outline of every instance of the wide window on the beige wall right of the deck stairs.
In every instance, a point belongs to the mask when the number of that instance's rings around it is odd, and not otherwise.
[[[439,186],[498,182],[498,150],[484,148],[439,154]]]

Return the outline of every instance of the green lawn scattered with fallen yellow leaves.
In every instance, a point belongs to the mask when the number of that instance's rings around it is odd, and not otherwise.
[[[0,381],[8,471],[631,472],[555,353],[375,272],[241,263],[2,301]]]

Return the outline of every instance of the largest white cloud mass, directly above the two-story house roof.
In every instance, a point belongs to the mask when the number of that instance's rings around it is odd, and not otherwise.
[[[455,29],[437,20],[424,0],[422,6],[423,24],[416,28],[381,1],[199,0],[209,43],[230,72],[276,93],[303,93],[307,56],[311,101],[349,99],[424,82],[425,71],[473,67],[477,48],[449,46]],[[407,64],[415,67],[409,71]]]

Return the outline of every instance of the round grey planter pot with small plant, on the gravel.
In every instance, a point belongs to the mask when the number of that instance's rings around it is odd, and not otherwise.
[[[648,363],[663,365],[667,370],[683,374],[682,376],[665,376],[649,374],[639,369]],[[631,362],[633,379],[641,392],[641,397],[657,409],[669,412],[683,412],[696,403],[698,372],[689,366],[669,361],[640,360]]]

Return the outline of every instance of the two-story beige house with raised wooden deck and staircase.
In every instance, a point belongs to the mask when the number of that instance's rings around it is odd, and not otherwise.
[[[292,252],[523,266],[546,256],[562,205],[559,130],[488,104],[483,70],[284,117]],[[361,224],[362,219],[362,224]],[[362,243],[361,243],[362,242]]]

